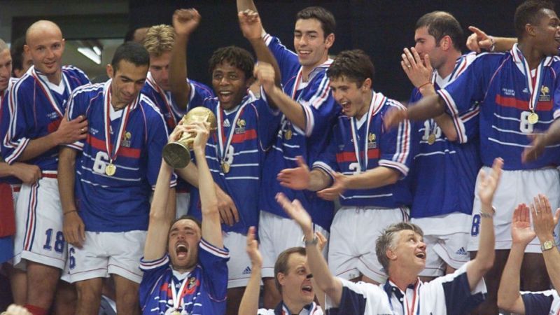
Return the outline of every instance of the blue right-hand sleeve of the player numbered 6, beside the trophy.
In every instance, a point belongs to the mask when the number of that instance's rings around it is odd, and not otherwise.
[[[155,182],[158,181],[158,174],[160,173],[160,166],[162,161],[163,147],[167,144],[167,124],[163,119],[162,114],[155,109],[155,105],[152,105],[154,112],[153,115],[149,116],[149,121],[147,124],[148,139],[146,151],[148,153],[148,165],[146,178],[148,183],[155,189]],[[171,187],[176,186],[177,177],[175,174],[172,175]]]

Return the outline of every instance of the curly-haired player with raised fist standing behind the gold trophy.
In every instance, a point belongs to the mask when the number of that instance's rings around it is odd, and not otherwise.
[[[246,50],[235,46],[219,48],[209,60],[216,97],[198,97],[200,91],[190,90],[185,80],[186,43],[199,22],[196,10],[176,10],[173,16],[176,45],[169,78],[174,95],[183,94],[176,99],[194,94],[189,106],[202,106],[216,116],[216,133],[208,140],[206,157],[217,186],[232,197],[235,208],[239,209],[239,213],[229,209],[220,211],[221,221],[225,223],[222,225],[223,244],[235,253],[228,262],[228,314],[237,314],[237,305],[251,276],[251,261],[244,253],[244,246],[248,228],[258,224],[261,165],[264,165],[265,151],[272,145],[280,122],[279,113],[270,108],[265,96],[265,92],[274,87],[276,72],[262,60],[254,66],[253,57]],[[260,89],[251,89],[255,92],[248,90],[253,76],[260,85]],[[168,161],[176,160],[164,155]],[[181,153],[174,157],[181,157]],[[188,161],[182,162],[172,166],[184,167]],[[196,176],[190,175],[192,181]],[[197,182],[193,186],[197,186]],[[202,216],[200,193],[200,190],[192,190],[189,210],[189,214],[199,219]]]

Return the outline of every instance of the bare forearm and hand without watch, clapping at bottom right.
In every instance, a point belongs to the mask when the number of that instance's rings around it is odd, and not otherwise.
[[[507,258],[498,289],[498,307],[516,314],[525,314],[525,305],[519,294],[521,263],[525,248],[535,238],[531,230],[529,209],[526,204],[519,204],[512,218],[512,248]]]

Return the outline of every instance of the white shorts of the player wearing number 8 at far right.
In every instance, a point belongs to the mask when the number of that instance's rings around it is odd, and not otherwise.
[[[486,174],[490,167],[482,167]],[[478,186],[478,180],[477,180]],[[511,223],[515,207],[518,204],[527,205],[533,202],[533,197],[543,194],[548,197],[552,211],[560,206],[560,176],[556,169],[533,169],[527,171],[503,171],[493,206],[496,208],[494,216],[494,232],[496,233],[496,249],[510,249],[512,246]],[[472,227],[470,230],[469,251],[478,251],[480,200],[475,194],[472,207]],[[532,224],[531,224],[532,225]],[[556,232],[556,242],[558,242]],[[528,244],[526,253],[540,253],[540,241],[537,237]]]

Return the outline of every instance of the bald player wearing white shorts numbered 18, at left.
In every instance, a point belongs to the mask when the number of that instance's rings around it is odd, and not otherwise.
[[[28,161],[42,172],[36,184],[22,185],[13,262],[16,267],[27,267],[27,309],[46,314],[66,263],[58,146],[85,139],[87,132],[84,117],[63,119],[66,99],[90,80],[79,69],[61,65],[64,38],[55,23],[35,22],[27,29],[26,43],[34,66],[10,90],[9,113],[4,111],[1,122],[8,125],[6,135],[2,134],[2,156],[10,165]]]

